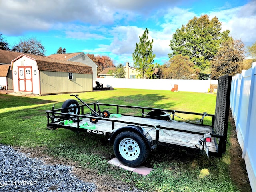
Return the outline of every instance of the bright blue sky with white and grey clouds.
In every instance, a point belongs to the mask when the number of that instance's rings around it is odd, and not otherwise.
[[[148,28],[155,62],[164,64],[175,30],[204,14],[216,16],[246,46],[256,41],[256,0],[0,0],[0,34],[11,46],[36,37],[46,56],[62,47],[132,65],[136,42]]]

